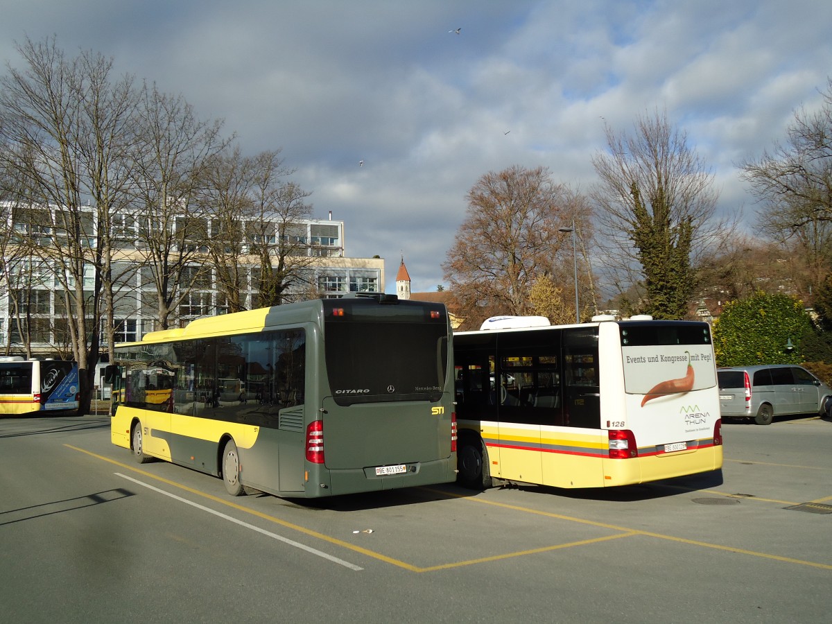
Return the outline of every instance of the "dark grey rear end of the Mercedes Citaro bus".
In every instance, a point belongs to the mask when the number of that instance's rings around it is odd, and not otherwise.
[[[456,478],[449,334],[443,305],[324,301],[329,388],[307,427],[319,494]]]

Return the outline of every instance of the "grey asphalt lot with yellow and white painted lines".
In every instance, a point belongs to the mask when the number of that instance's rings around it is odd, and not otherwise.
[[[830,622],[832,423],[723,433],[721,475],[304,502],[2,418],[0,622]]]

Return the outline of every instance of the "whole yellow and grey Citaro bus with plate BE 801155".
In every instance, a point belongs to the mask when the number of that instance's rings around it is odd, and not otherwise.
[[[444,305],[395,295],[196,319],[116,345],[111,440],[235,496],[448,483],[452,361]]]

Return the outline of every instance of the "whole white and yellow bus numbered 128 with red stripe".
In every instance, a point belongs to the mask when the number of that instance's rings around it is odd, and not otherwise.
[[[458,481],[601,488],[722,466],[711,329],[495,317],[453,336]]]

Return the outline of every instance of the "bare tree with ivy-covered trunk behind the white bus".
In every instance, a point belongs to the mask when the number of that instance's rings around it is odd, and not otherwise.
[[[696,262],[726,231],[713,220],[713,175],[686,134],[658,111],[640,116],[629,136],[607,126],[607,146],[592,158],[607,278],[621,293],[643,283],[645,300],[636,309],[684,318],[696,291]]]

